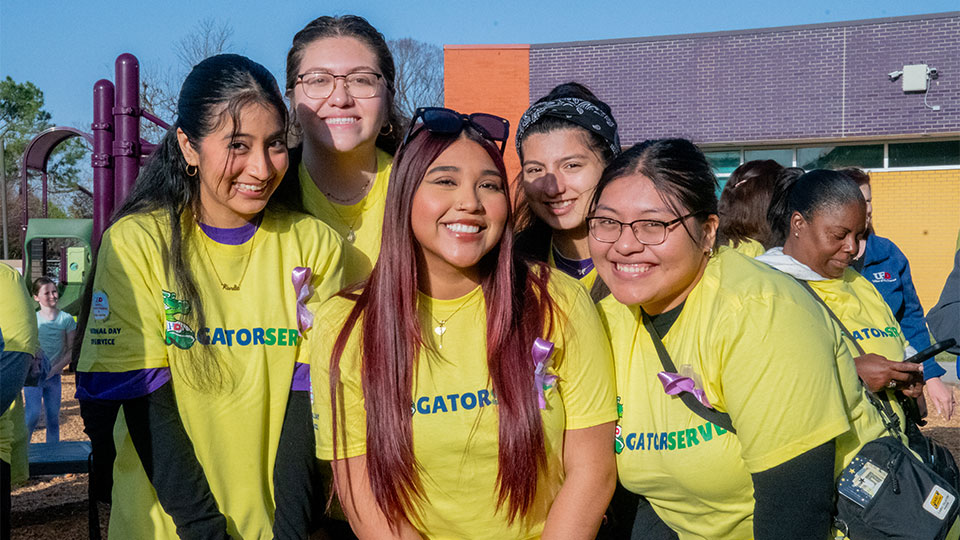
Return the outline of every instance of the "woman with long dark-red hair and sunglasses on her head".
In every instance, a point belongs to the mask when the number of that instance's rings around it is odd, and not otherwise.
[[[593,303],[514,251],[506,120],[411,126],[373,272],[310,341],[318,456],[360,538],[592,539],[616,476]]]

